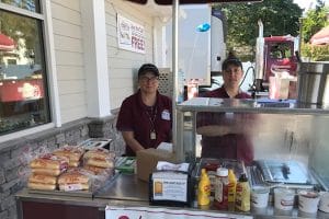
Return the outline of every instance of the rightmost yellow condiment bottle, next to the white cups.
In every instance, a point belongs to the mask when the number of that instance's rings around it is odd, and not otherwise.
[[[237,183],[236,208],[242,211],[250,210],[250,186],[246,173],[242,173]]]

